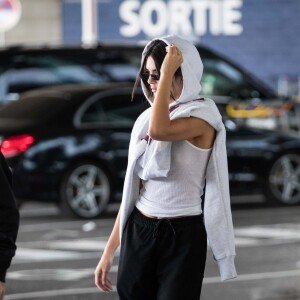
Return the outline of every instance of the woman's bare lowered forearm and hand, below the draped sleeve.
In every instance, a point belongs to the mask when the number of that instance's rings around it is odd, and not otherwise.
[[[95,284],[100,290],[104,292],[112,291],[112,283],[108,276],[108,272],[112,266],[115,252],[120,245],[119,228],[120,212],[118,213],[114,228],[95,270]]]

